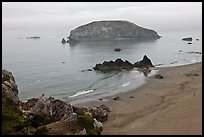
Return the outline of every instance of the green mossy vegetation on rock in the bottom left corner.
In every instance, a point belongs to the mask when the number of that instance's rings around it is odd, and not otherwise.
[[[24,127],[28,127],[28,123],[21,111],[14,107],[11,98],[2,96],[2,134],[20,134]]]

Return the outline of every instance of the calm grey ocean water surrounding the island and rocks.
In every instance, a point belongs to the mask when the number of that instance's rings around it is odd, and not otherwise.
[[[74,46],[61,44],[69,33],[10,30],[2,34],[2,69],[13,73],[23,101],[42,93],[73,104],[98,100],[141,86],[157,73],[158,67],[202,61],[202,54],[189,53],[202,53],[202,30],[163,31],[157,40],[86,42]],[[26,39],[30,36],[41,38]],[[192,44],[181,40],[188,36],[193,37]],[[115,52],[114,48],[122,51]],[[147,76],[137,69],[111,73],[86,70],[117,58],[135,63],[144,55],[158,65]]]

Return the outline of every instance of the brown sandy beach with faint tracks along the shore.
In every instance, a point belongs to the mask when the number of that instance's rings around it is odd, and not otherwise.
[[[103,135],[191,135],[202,134],[202,62],[159,68],[141,87],[110,97],[110,109],[103,122]]]

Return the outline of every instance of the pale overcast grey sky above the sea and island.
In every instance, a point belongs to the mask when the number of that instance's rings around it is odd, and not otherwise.
[[[3,2],[3,30],[69,30],[128,20],[155,30],[202,29],[202,2]]]

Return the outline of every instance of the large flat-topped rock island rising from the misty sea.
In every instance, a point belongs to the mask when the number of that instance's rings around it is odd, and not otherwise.
[[[94,21],[72,30],[69,41],[158,39],[160,36],[151,29],[140,27],[129,21]]]

